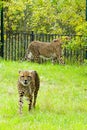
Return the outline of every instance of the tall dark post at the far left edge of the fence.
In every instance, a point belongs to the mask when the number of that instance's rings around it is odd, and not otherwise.
[[[3,0],[2,0],[3,1]],[[1,43],[0,43],[0,56],[3,57],[3,49],[4,49],[4,24],[3,24],[3,4],[1,7]]]

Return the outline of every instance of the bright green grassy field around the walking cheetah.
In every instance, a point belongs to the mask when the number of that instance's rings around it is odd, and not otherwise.
[[[37,70],[36,109],[18,113],[19,70]],[[0,60],[0,130],[87,130],[87,66]]]

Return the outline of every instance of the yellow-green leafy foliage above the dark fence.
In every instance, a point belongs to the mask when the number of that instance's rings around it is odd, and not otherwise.
[[[11,0],[5,29],[38,33],[86,34],[85,0]]]

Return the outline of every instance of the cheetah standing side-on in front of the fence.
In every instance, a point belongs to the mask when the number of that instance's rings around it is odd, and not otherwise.
[[[28,46],[25,58],[28,61],[38,63],[41,63],[41,58],[46,60],[51,59],[52,63],[56,61],[63,64],[61,39],[54,39],[51,43],[40,41],[31,42]]]

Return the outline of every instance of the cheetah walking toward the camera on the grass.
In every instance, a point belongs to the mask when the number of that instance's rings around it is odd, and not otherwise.
[[[18,93],[19,93],[19,112],[22,113],[23,96],[27,97],[29,110],[35,107],[40,79],[36,71],[19,71]]]

